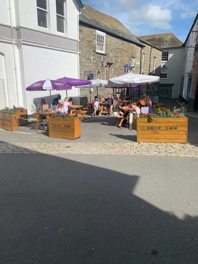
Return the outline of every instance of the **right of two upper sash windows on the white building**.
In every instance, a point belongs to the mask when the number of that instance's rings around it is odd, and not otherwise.
[[[65,3],[64,0],[56,0],[57,32],[65,33]]]

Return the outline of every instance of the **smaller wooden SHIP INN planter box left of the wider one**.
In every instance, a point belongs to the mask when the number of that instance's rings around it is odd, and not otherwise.
[[[79,117],[49,117],[49,137],[76,139],[80,138]]]

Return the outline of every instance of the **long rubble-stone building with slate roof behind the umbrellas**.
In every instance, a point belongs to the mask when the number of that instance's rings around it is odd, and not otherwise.
[[[84,7],[79,15],[80,78],[89,79],[89,73],[93,73],[94,79],[108,80],[123,75],[125,66],[128,66],[128,72],[131,73],[148,74],[150,69],[151,74],[160,74],[162,51],[159,48],[138,39],[116,18],[85,4]],[[151,57],[150,49],[153,50]],[[142,72],[142,69],[145,72]],[[158,87],[158,84],[153,85],[155,86]],[[97,94],[97,88],[93,89],[94,96]],[[144,89],[145,87],[141,89],[138,96]],[[122,92],[122,89],[117,88],[98,90],[100,96]],[[158,88],[155,89],[156,92],[157,90]],[[80,88],[80,99],[81,104],[90,99],[89,88]]]

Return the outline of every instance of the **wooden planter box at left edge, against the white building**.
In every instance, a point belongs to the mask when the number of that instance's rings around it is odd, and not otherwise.
[[[28,120],[20,119],[18,117],[28,119],[27,109],[24,109],[23,112],[11,115],[0,112],[0,128],[9,131],[17,131],[18,126],[28,125]]]

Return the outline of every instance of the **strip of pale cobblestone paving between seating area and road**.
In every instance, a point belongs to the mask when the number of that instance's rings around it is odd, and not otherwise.
[[[116,151],[117,150],[117,151]],[[123,154],[155,155],[172,157],[197,157],[198,145],[179,143],[1,143],[0,153],[45,153],[45,154]]]

